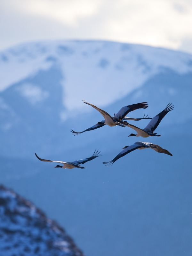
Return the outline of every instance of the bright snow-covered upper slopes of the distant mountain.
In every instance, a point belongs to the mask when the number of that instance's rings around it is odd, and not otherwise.
[[[192,56],[161,48],[105,41],[29,43],[0,53],[0,90],[33,76],[38,70],[48,70],[52,65],[57,65],[62,72],[62,103],[71,115],[74,111],[90,111],[80,99],[107,106],[141,87],[164,68],[179,74],[188,73],[192,71]],[[112,73],[113,79],[110,79]],[[108,81],[110,84],[106,86]],[[31,104],[51,96],[36,84],[23,84],[21,91]],[[65,115],[63,118],[67,118]]]

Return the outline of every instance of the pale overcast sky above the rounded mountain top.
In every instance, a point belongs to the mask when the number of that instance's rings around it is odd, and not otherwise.
[[[0,50],[103,39],[192,53],[192,0],[0,0]]]

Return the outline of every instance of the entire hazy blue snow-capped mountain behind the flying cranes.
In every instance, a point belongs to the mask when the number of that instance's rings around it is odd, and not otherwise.
[[[0,52],[0,76],[3,184],[59,221],[86,255],[191,256],[192,55],[103,41],[29,43]],[[130,117],[175,108],[156,129],[161,137],[128,138],[130,128],[108,126],[73,136],[103,120],[82,100],[111,115],[148,102]],[[173,156],[135,150],[102,164],[135,141]],[[74,161],[95,149],[102,156],[83,170],[54,169],[34,154]]]

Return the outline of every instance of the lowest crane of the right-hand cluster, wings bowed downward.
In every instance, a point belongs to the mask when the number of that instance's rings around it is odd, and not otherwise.
[[[131,146],[125,146],[123,148],[123,150],[113,160],[111,160],[109,162],[103,162],[103,164],[105,164],[105,165],[114,164],[115,161],[117,161],[120,157],[129,154],[133,150],[135,150],[135,149],[145,149],[145,148],[152,148],[158,153],[163,153],[163,154],[167,154],[169,156],[172,156],[172,154],[168,150],[166,150],[164,148],[161,148],[160,146],[158,146],[156,144],[153,144],[153,143],[150,143],[150,142],[137,141]]]

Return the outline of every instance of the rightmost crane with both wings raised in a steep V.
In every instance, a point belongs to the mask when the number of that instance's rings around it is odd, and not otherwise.
[[[159,125],[159,123],[161,122],[161,120],[164,118],[164,116],[169,111],[173,110],[173,108],[174,108],[174,106],[172,105],[172,103],[169,103],[163,111],[161,111],[159,114],[157,114],[156,116],[154,116],[152,118],[152,120],[148,123],[148,125],[144,129],[140,129],[139,127],[132,125],[132,124],[127,124],[126,125],[127,127],[130,127],[137,132],[137,134],[131,133],[128,137],[141,136],[143,138],[147,138],[150,136],[157,136],[157,137],[161,136],[161,135],[157,135],[157,133],[154,133],[154,131],[157,128],[157,126]]]

